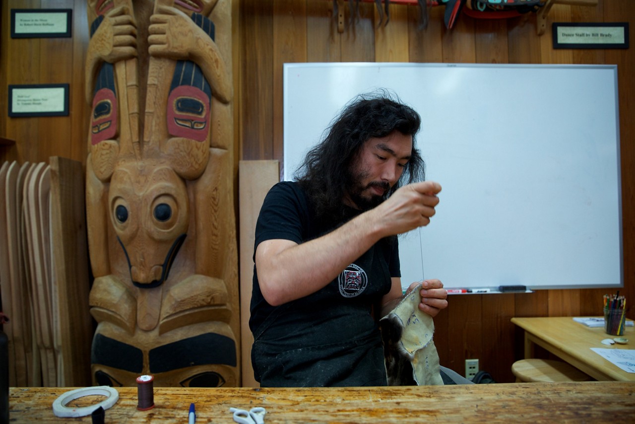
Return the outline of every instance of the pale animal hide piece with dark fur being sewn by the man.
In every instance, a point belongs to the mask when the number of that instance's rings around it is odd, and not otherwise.
[[[421,285],[379,321],[389,386],[443,385],[434,322],[419,310]]]

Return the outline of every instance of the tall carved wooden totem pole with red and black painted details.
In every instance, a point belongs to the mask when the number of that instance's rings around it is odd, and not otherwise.
[[[93,383],[236,386],[231,0],[89,0]]]

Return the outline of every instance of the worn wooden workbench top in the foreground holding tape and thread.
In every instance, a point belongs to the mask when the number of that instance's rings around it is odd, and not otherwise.
[[[71,388],[11,388],[11,423],[91,422],[57,418],[52,404]],[[633,422],[635,384],[506,383],[372,388],[154,388],[155,407],[137,410],[137,388],[122,387],[106,423],[233,423],[230,407],[267,409],[265,423]],[[102,397],[103,399],[103,397]],[[88,397],[71,406],[87,406]],[[93,404],[98,400],[92,399]]]

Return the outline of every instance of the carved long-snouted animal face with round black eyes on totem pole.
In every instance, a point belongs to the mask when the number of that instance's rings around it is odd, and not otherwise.
[[[112,174],[109,207],[133,284],[163,284],[189,224],[185,182],[167,165],[123,163]]]

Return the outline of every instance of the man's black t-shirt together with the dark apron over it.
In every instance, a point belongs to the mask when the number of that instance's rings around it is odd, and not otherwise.
[[[350,212],[350,218],[360,213]],[[279,238],[300,244],[335,226],[314,219],[297,183],[280,182],[260,210],[254,249]],[[391,277],[400,277],[396,238],[377,242],[323,289],[281,306],[265,301],[254,266],[249,324],[256,380],[262,386],[386,385],[372,306],[390,291]]]

